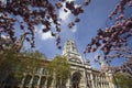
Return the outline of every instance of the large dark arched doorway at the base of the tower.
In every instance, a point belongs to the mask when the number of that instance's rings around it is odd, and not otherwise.
[[[79,72],[74,73],[72,77],[72,82],[73,82],[72,87],[79,88],[80,79],[81,79],[81,74]]]

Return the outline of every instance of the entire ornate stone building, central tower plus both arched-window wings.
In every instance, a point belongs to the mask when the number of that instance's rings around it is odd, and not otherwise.
[[[89,62],[78,53],[76,44],[72,40],[67,40],[64,44],[63,55],[67,57],[70,65],[70,76],[66,82],[66,88],[114,88],[112,84],[112,74],[94,69]],[[41,61],[43,63],[44,61]],[[44,62],[45,63],[45,62]],[[46,62],[47,64],[50,61]],[[56,88],[50,72],[46,67],[36,69],[35,75],[25,74],[25,77],[18,86],[7,84],[6,88]]]

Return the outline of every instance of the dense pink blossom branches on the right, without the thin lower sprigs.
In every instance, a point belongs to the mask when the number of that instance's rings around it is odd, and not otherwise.
[[[96,52],[97,48],[100,48],[105,55],[108,55],[111,51],[118,51],[119,53],[122,51],[131,54],[131,48],[129,48],[128,41],[132,36],[132,16],[131,14],[129,16],[124,16],[124,10],[128,10],[129,8],[131,9],[132,7],[131,2],[132,1],[130,0],[121,0],[120,3],[116,6],[114,11],[109,16],[112,19],[113,15],[117,15],[116,20],[113,20],[114,24],[106,29],[99,29],[97,36],[91,40],[91,43],[87,45],[84,53]],[[131,6],[128,6],[129,3]],[[120,55],[119,53],[117,55],[122,57],[123,54],[121,53],[122,55]]]

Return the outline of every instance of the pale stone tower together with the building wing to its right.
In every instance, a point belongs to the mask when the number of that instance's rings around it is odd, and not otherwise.
[[[65,42],[63,55],[67,57],[72,69],[67,88],[113,88],[112,75],[109,73],[100,75],[99,70],[84,62],[74,41]]]

